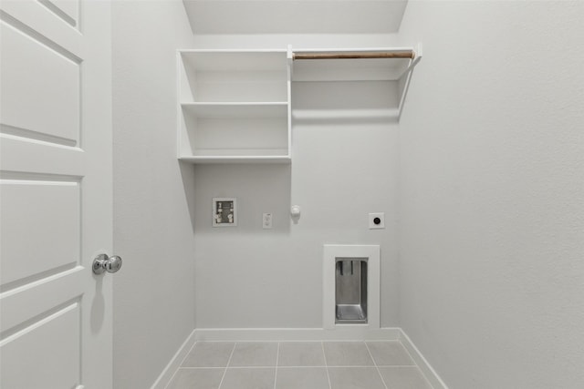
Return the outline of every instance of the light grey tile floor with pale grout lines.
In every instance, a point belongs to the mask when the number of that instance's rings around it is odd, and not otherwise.
[[[197,342],[167,389],[432,389],[392,342]]]

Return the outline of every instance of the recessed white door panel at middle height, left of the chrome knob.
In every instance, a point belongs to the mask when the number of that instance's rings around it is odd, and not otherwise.
[[[77,265],[79,183],[3,179],[1,185],[0,284]]]

